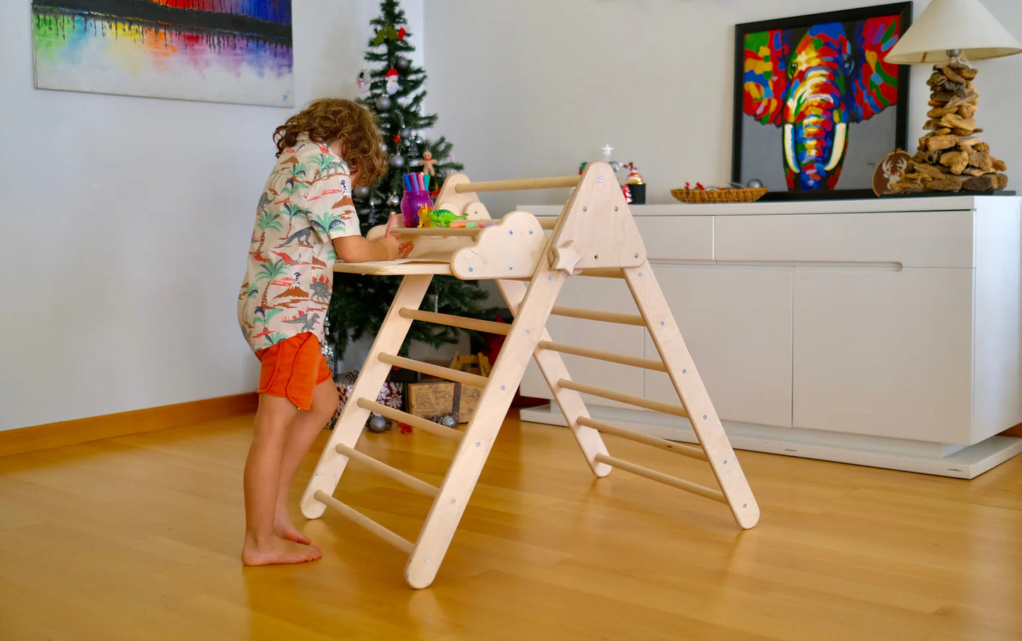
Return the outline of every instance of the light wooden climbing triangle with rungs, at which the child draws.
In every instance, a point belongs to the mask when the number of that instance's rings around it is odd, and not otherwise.
[[[646,260],[646,248],[608,164],[588,164],[580,177],[494,183],[471,183],[464,175],[456,175],[446,181],[436,207],[467,214],[468,220],[483,220],[490,219],[490,214],[478,200],[480,192],[571,187],[574,191],[557,218],[541,219],[524,211],[512,211],[499,224],[475,229],[403,229],[401,233],[413,236],[415,241],[415,249],[407,259],[337,262],[334,267],[340,273],[403,276],[404,279],[366,357],[351,399],[341,410],[303,495],[301,512],[309,519],[318,519],[331,507],[405,551],[409,555],[405,578],[413,588],[427,587],[435,578],[529,358],[536,358],[586,462],[597,477],[605,477],[617,467],[724,503],[742,528],[753,527],[759,519],[752,491]],[[369,238],[383,233],[382,227],[375,228]],[[514,322],[510,325],[492,323],[420,309],[430,281],[442,275],[497,281],[514,314]],[[609,313],[555,305],[566,279],[591,277],[623,279],[639,313]],[[644,326],[653,339],[659,359],[555,342],[546,329],[551,314]],[[506,339],[490,376],[481,377],[398,355],[414,320],[501,334]],[[561,354],[665,372],[681,404],[575,383]],[[482,388],[478,407],[465,429],[444,427],[375,402],[392,365]],[[698,446],[665,441],[596,421],[586,408],[584,394],[687,417]],[[355,449],[370,412],[458,443],[439,486]],[[705,460],[718,489],[611,456],[601,432]],[[334,498],[337,483],[350,460],[433,497],[432,507],[414,542]]]

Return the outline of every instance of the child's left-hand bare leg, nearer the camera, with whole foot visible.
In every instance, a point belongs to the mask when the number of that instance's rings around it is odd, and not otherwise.
[[[241,561],[246,565],[300,563],[322,555],[318,548],[285,540],[274,531],[282,453],[288,424],[297,413],[298,408],[287,398],[260,394],[244,473],[245,542]]]

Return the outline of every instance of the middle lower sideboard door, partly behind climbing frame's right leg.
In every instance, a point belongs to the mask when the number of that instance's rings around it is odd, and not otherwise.
[[[791,427],[792,268],[653,269],[717,414]],[[659,357],[648,336],[645,350]],[[645,380],[648,398],[678,402],[667,375],[646,371]]]

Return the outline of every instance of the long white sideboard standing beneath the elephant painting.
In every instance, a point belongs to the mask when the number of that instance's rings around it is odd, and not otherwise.
[[[1022,423],[1022,198],[632,211],[736,448],[968,479],[1022,452],[1022,439],[996,436]],[[568,279],[558,304],[634,308],[610,279]],[[555,316],[549,330],[656,357],[643,328]],[[664,374],[564,359],[579,382],[677,402]],[[551,397],[535,363],[522,393]],[[587,403],[596,417],[694,441],[684,418]],[[564,425],[554,406],[522,417]]]

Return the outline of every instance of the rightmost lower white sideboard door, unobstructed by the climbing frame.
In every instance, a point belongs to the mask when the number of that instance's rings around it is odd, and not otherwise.
[[[968,443],[972,269],[797,267],[794,426]]]

